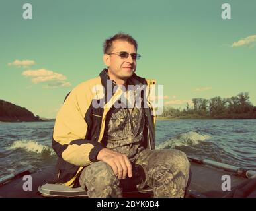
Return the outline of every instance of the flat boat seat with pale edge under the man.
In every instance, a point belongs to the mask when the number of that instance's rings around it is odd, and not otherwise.
[[[39,193],[44,197],[88,197],[87,191],[81,187],[70,188],[64,184],[45,183],[38,187]],[[150,187],[138,191],[126,191],[124,197],[151,197],[153,189]]]

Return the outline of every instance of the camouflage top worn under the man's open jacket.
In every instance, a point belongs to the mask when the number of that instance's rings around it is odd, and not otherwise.
[[[135,155],[144,149],[142,137],[144,129],[144,109],[136,106],[134,91],[126,91],[127,104],[120,108],[112,107],[106,119],[104,142],[107,148],[126,154],[133,161]],[[134,99],[131,101],[131,97]],[[119,101],[120,102],[120,101]],[[132,104],[130,104],[132,103]]]

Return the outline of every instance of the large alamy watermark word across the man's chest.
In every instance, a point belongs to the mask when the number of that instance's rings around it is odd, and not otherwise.
[[[107,80],[107,90],[101,85],[93,86],[94,108],[150,108],[151,115],[163,113],[163,85],[122,85],[114,86],[112,80]],[[107,95],[107,96],[106,96]],[[107,100],[107,102],[106,102]]]

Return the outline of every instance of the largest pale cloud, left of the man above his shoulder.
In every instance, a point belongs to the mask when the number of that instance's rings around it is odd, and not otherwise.
[[[48,82],[45,88],[56,88],[56,87],[67,87],[71,86],[70,82],[67,82],[67,77],[61,73],[55,73],[47,69],[36,69],[27,70],[22,73],[22,75],[31,78],[34,84]]]

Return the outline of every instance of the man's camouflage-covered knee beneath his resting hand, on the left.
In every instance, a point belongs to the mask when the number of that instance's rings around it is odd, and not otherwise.
[[[99,161],[85,167],[79,182],[81,187],[87,189],[90,198],[122,197],[120,181],[105,162]]]

